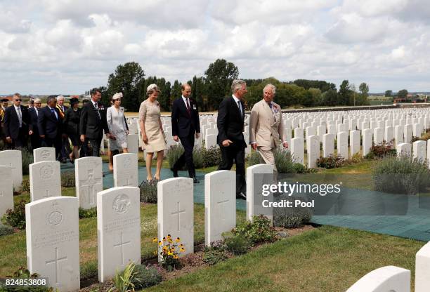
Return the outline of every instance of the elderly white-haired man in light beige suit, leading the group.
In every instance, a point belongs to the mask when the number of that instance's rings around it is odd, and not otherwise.
[[[273,102],[275,93],[276,87],[267,84],[263,88],[263,99],[252,107],[249,118],[249,144],[254,150],[258,150],[261,162],[274,166],[276,180],[278,170],[275,165],[275,150],[281,141],[284,148],[288,147],[288,143],[284,138],[281,108]]]

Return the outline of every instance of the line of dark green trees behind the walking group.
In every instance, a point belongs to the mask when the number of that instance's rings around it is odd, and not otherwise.
[[[217,110],[221,100],[230,95],[230,86],[239,77],[239,69],[224,59],[217,59],[209,64],[204,76],[194,76],[188,81],[192,86],[191,97],[197,101],[201,112]],[[266,79],[245,79],[248,93],[246,95],[247,108],[262,98],[263,88],[271,83],[276,86],[275,102],[282,108],[291,106],[335,106],[335,105],[368,105],[367,96],[369,86],[362,83],[359,92],[348,80],[344,80],[339,88],[327,81],[297,79],[284,82],[269,77]],[[158,101],[162,111],[169,112],[171,104],[181,97],[181,82],[171,84],[163,77],[145,77],[145,72],[138,62],[127,62],[118,65],[115,72],[109,75],[107,86],[101,86],[102,101],[109,104],[110,98],[117,92],[122,92],[124,98],[122,106],[129,112],[137,112],[145,100],[146,87],[157,84],[161,90]]]

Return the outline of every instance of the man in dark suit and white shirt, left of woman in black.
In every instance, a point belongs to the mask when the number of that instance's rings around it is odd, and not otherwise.
[[[55,147],[58,159],[61,151],[61,138],[63,135],[63,121],[57,109],[57,100],[51,96],[46,100],[46,107],[40,110],[37,117],[39,136],[42,146]]]

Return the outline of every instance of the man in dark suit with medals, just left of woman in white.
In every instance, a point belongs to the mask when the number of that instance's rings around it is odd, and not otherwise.
[[[91,90],[91,100],[82,107],[79,132],[81,141],[84,144],[89,140],[93,157],[100,155],[100,144],[103,138],[103,130],[109,138],[109,128],[107,128],[106,112],[103,105],[100,105],[101,91],[97,88]],[[88,139],[88,140],[87,140]]]

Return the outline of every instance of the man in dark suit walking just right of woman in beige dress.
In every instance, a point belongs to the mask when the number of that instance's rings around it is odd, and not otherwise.
[[[194,183],[199,183],[195,178],[195,167],[193,163],[194,137],[200,136],[200,120],[197,103],[190,99],[190,84],[182,85],[182,96],[174,101],[173,110],[171,111],[171,129],[174,140],[181,140],[185,152],[179,157],[178,161],[171,168],[174,177],[178,176],[178,169],[184,164],[187,165],[188,174],[193,178]]]

